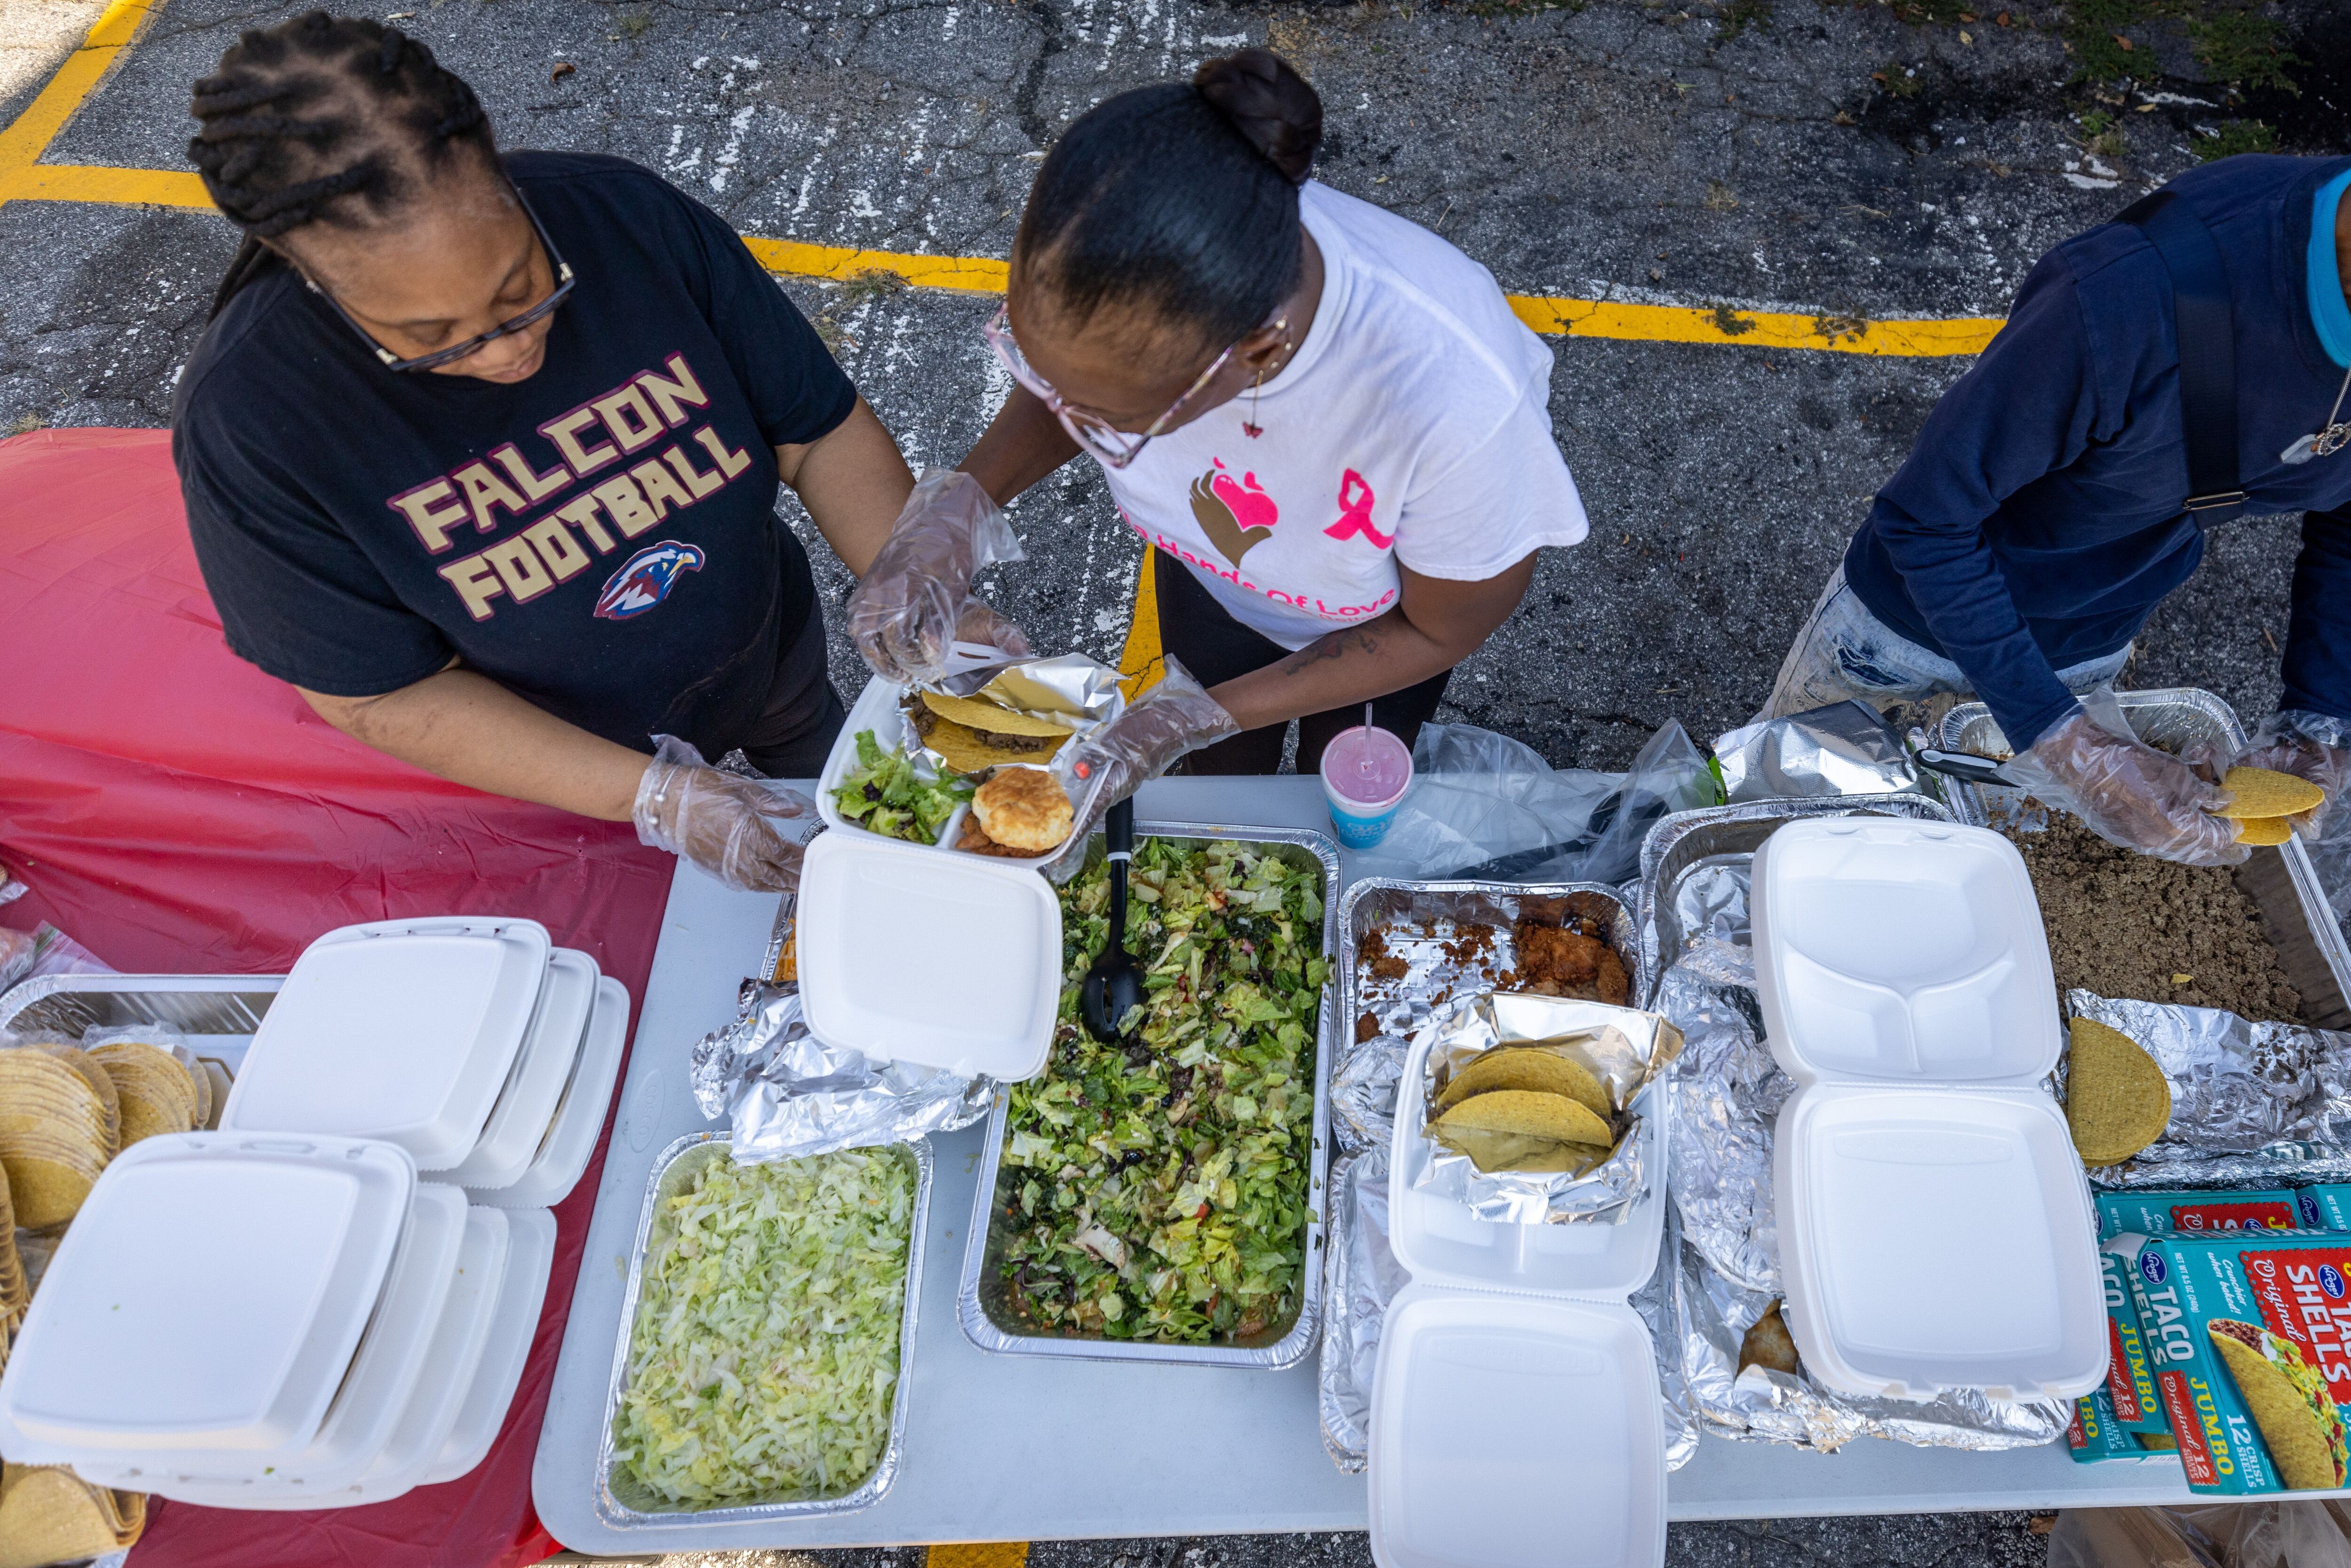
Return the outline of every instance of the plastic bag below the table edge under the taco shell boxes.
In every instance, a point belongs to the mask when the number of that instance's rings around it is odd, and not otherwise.
[[[2351,1505],[2067,1509],[2048,1568],[2351,1568]]]

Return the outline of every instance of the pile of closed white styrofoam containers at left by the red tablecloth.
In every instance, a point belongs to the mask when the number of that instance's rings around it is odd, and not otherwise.
[[[247,1509],[470,1472],[625,1023],[628,992],[527,919],[322,936],[221,1128],[148,1138],[92,1190],[0,1378],[0,1458]]]

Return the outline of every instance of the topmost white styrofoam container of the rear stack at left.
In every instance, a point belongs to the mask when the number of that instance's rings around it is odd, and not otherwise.
[[[522,1051],[548,954],[534,919],[329,931],[261,1018],[221,1128],[383,1138],[418,1171],[456,1166]]]

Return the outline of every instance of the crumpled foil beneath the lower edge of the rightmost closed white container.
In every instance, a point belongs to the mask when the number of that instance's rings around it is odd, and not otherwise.
[[[1704,1432],[1834,1453],[1857,1436],[1918,1448],[2038,1448],[2064,1432],[2071,1401],[2003,1403],[1980,1389],[1930,1401],[1853,1399],[1817,1387],[1803,1371],[1740,1371],[1740,1342],[1775,1295],[1744,1291],[1683,1241],[1674,1269],[1681,1371]]]

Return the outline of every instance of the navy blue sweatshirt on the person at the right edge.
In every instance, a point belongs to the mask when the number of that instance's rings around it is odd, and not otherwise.
[[[2351,719],[2351,451],[2280,461],[2344,378],[2311,327],[2304,259],[2311,202],[2344,167],[2229,158],[2170,188],[2229,270],[2245,515],[2306,512],[2283,705]],[[1846,581],[1965,670],[2024,750],[2074,712],[2057,670],[2121,649],[2196,571],[2205,541],[2186,494],[2170,273],[2137,228],[2102,223],[2034,266],[1878,491]]]

